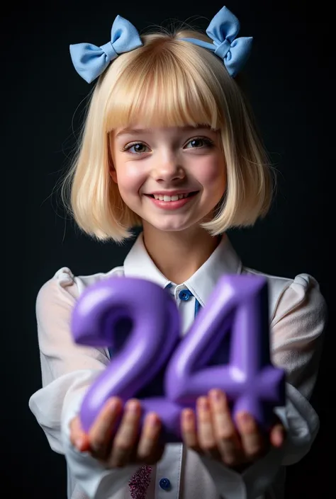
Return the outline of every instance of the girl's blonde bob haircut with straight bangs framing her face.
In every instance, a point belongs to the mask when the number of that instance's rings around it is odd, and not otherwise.
[[[142,225],[109,173],[110,132],[137,122],[220,131],[227,188],[213,219],[201,224],[213,236],[251,226],[271,203],[272,170],[242,91],[223,60],[180,38],[212,40],[190,28],[160,29],[142,35],[142,47],[118,56],[99,77],[77,154],[62,179],[65,207],[82,231],[100,241],[121,242]]]

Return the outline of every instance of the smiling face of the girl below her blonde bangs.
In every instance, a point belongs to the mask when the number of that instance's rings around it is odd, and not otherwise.
[[[209,127],[140,124],[111,132],[111,177],[125,204],[162,231],[212,216],[226,187],[220,132]]]

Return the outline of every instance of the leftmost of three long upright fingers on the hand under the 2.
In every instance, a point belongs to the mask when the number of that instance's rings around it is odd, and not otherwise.
[[[122,410],[118,397],[109,398],[101,409],[89,431],[91,453],[94,457],[105,459],[111,446],[111,438],[116,422]]]

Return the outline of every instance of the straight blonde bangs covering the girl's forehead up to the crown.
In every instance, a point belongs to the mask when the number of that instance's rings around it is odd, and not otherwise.
[[[204,58],[197,63],[199,55],[193,52],[199,47],[167,38],[157,41],[155,47],[147,41],[137,56],[133,54],[132,64],[124,59],[116,83],[110,86],[106,132],[139,121],[145,127],[221,127],[215,101],[219,84],[217,92],[209,88],[213,69]]]

